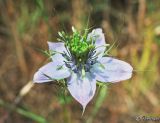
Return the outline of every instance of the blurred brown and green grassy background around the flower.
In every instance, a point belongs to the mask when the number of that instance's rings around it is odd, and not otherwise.
[[[88,19],[89,18],[89,19]],[[128,81],[97,87],[84,116],[53,83],[33,84],[58,31],[103,28],[110,55],[134,67]],[[0,123],[135,123],[160,117],[159,0],[0,0]]]

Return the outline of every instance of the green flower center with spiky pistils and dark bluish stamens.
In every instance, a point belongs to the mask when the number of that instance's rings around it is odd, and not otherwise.
[[[64,54],[67,59],[66,66],[75,72],[87,72],[97,60],[94,43],[87,39],[88,31],[81,35],[74,28],[72,30],[73,34],[70,36],[63,32],[60,33],[60,36],[65,39],[65,46],[69,54],[69,56]]]

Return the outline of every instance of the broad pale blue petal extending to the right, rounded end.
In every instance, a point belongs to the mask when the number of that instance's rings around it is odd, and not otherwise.
[[[132,76],[133,68],[127,62],[111,57],[102,57],[99,62],[100,64],[96,63],[91,70],[98,81],[119,82]]]

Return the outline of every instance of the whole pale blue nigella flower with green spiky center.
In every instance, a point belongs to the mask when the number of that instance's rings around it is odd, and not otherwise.
[[[73,34],[59,32],[63,42],[48,42],[52,62],[41,67],[34,75],[35,83],[65,79],[70,94],[83,110],[93,98],[96,82],[119,82],[132,76],[130,64],[104,57],[108,44],[102,29],[88,30],[81,35],[75,28]]]

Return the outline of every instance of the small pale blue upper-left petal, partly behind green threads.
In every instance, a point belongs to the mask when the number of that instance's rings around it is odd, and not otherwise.
[[[62,54],[60,54],[63,52],[67,53],[66,48],[64,46],[64,43],[62,43],[62,42],[60,42],[60,43],[48,42],[48,46],[49,46],[49,50],[59,52],[59,53],[52,56],[53,61],[58,59],[59,62],[63,62],[65,60],[65,58],[62,56]]]

